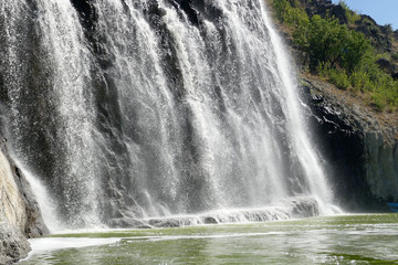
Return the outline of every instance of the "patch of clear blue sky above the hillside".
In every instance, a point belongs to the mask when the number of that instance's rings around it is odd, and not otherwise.
[[[339,0],[333,0],[338,3]],[[398,30],[398,0],[344,0],[348,7],[360,14],[370,15],[380,25],[391,24]]]

